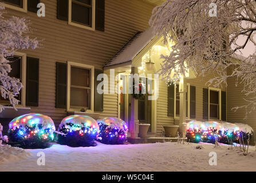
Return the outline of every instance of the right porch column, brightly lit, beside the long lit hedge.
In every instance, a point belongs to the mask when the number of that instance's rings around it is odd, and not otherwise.
[[[180,120],[179,120],[179,134],[181,137],[186,137],[186,93],[187,93],[187,82],[185,78],[180,78],[179,82],[179,93],[180,93]]]

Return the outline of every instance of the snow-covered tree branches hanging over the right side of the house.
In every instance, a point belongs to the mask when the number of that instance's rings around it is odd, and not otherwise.
[[[216,17],[210,16],[211,3],[216,4]],[[235,109],[256,108],[255,0],[167,0],[155,7],[149,24],[164,43],[174,42],[171,53],[161,56],[164,79],[172,80],[171,73],[178,78],[190,67],[199,75],[214,74],[208,85],[215,87],[236,78],[250,97],[248,105]],[[254,49],[244,54],[248,47]],[[238,61],[235,55],[242,57]]]

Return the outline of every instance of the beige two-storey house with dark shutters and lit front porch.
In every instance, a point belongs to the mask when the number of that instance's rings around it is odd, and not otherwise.
[[[154,78],[151,89],[159,85],[156,100],[136,100],[131,94],[111,93],[112,86],[127,83],[123,76],[129,73],[147,74],[146,63],[155,63],[160,69],[160,55],[170,47],[155,37],[148,20],[152,9],[162,0],[5,0],[7,16],[28,17],[33,33],[41,39],[36,50],[15,53],[13,74],[21,78],[23,89],[18,111],[6,106],[0,114],[7,124],[12,118],[25,113],[42,113],[52,117],[58,125],[70,114],[85,114],[93,118],[120,117],[129,124],[131,137],[137,137],[138,124],[151,124],[148,136],[162,137],[164,125],[184,122],[230,121],[248,122],[255,129],[251,114],[244,121],[243,112],[231,112],[239,105],[234,82],[216,89],[208,87],[207,77],[198,77],[194,70],[170,85]],[[37,3],[45,3],[46,16],[37,16]],[[170,43],[171,44],[171,43]],[[96,90],[105,73],[109,78],[115,69],[117,81],[108,86],[108,94]],[[122,78],[122,79],[121,79]],[[6,101],[1,101],[5,104]],[[86,112],[81,112],[81,109]]]

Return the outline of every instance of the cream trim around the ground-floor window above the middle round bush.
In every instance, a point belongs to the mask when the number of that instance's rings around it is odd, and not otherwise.
[[[66,91],[66,110],[68,112],[70,111],[76,111],[76,109],[70,108],[70,83],[71,83],[71,66],[81,67],[84,69],[90,69],[90,110],[87,110],[88,113],[94,113],[94,66],[92,65],[85,65],[82,63],[76,63],[76,62],[70,62],[68,61],[68,67],[67,67],[67,91]]]

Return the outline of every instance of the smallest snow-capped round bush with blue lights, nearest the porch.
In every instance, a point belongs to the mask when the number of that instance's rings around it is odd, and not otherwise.
[[[97,120],[100,127],[99,141],[104,144],[124,144],[128,128],[119,118],[108,117]]]

